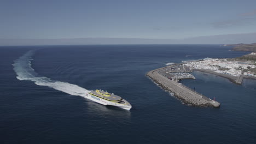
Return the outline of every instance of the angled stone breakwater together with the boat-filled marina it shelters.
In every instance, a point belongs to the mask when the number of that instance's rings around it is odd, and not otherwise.
[[[188,69],[183,67],[182,64],[173,64],[164,68],[149,71],[147,76],[154,82],[158,83],[161,88],[174,93],[174,96],[182,100],[185,104],[204,107],[219,107],[220,104],[217,101],[193,91],[192,89],[182,85],[182,83],[178,83],[181,79],[194,79],[194,76],[191,77],[188,75],[189,71],[187,70]],[[174,73],[178,74],[176,75]]]

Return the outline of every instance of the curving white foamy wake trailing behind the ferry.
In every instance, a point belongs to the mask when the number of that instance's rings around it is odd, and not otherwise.
[[[34,55],[34,50],[28,51],[25,55],[14,61],[14,71],[17,74],[18,80],[33,81],[39,86],[48,86],[54,88],[58,91],[62,91],[71,95],[79,95],[85,97],[85,94],[90,92],[89,90],[73,85],[67,82],[54,81],[48,77],[40,76],[39,74],[31,68],[32,56]]]

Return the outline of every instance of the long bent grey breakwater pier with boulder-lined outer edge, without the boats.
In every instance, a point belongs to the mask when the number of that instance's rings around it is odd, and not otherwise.
[[[167,66],[164,68],[155,69],[149,71],[147,76],[150,77],[154,82],[158,83],[163,89],[174,93],[174,96],[182,100],[183,103],[193,105],[193,106],[213,106],[219,107],[220,104],[210,98],[205,97],[188,87],[185,87],[181,83],[170,80],[164,75],[162,71],[170,69],[173,66]]]

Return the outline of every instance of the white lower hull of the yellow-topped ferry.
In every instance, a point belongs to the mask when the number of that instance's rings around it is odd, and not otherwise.
[[[125,109],[125,110],[130,110],[131,109],[131,105],[125,99],[122,100],[122,101],[125,102],[125,104],[120,104],[120,103],[115,102],[115,101],[108,101],[108,100],[105,100],[105,99],[102,99],[102,98],[99,98],[99,97],[95,97],[94,95],[91,95],[89,93],[85,94],[85,98],[88,98],[88,99],[90,99],[92,101],[95,101],[96,103],[99,103],[99,104],[102,104],[102,105],[113,105],[113,106],[117,106],[117,107],[120,107],[120,108]]]

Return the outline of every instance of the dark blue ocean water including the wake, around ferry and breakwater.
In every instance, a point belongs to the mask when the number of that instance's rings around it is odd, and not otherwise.
[[[0,47],[0,143],[255,143],[256,81],[235,85],[194,71],[183,80],[221,104],[187,106],[147,71],[166,63],[248,52],[220,45]],[[18,77],[17,77],[18,76]],[[83,92],[106,89],[132,105],[104,106]]]

